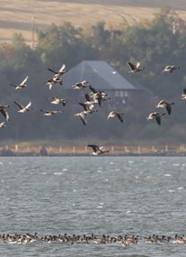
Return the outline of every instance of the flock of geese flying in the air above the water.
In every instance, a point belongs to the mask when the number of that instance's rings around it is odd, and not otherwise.
[[[139,61],[137,62],[137,64],[128,62],[128,66],[130,67],[130,70],[128,71],[128,73],[137,73],[137,72],[140,72],[143,69],[145,69],[144,67],[141,67]],[[176,69],[180,69],[180,67],[175,66],[175,65],[168,65],[164,68],[163,72],[173,73],[173,71]],[[49,80],[44,84],[48,85],[50,90],[56,84],[63,85],[63,75],[67,71],[66,65],[63,64],[61,66],[61,68],[58,70],[49,69],[49,71],[53,73],[53,76],[52,76],[52,78],[49,78]],[[24,78],[22,80],[22,82],[18,85],[11,83],[10,86],[14,87],[15,89],[23,89],[28,86],[28,84],[27,84],[28,78],[29,78],[29,76]],[[87,124],[87,119],[86,119],[87,115],[98,112],[98,110],[94,109],[95,104],[98,104],[99,106],[102,107],[102,103],[104,101],[111,99],[104,91],[98,90],[98,89],[92,87],[91,83],[87,80],[77,82],[72,87],[77,90],[81,90],[84,88],[89,88],[91,90],[91,92],[89,94],[88,93],[84,94],[86,101],[84,101],[84,103],[79,103],[79,105],[82,106],[84,110],[78,114],[75,114],[75,116],[79,116],[79,118],[81,119],[81,121],[84,125]],[[182,99],[186,99],[186,89],[183,89]],[[58,96],[51,96],[51,97],[49,97],[49,100],[50,100],[51,104],[54,104],[54,105],[66,106],[66,103],[67,103],[66,99],[59,98]],[[26,106],[23,106],[21,103],[18,103],[17,101],[14,101],[13,103],[16,106],[18,106],[19,113],[26,113],[32,109],[31,101]],[[173,105],[174,105],[174,103],[167,103],[166,101],[162,100],[157,104],[156,107],[157,108],[165,108],[167,110],[168,115],[171,115]],[[6,121],[10,120],[10,117],[7,112],[8,107],[10,107],[10,106],[8,106],[8,105],[0,106],[0,113],[4,116]],[[51,115],[56,115],[58,113],[62,113],[63,111],[62,110],[40,109],[40,112],[42,112],[43,115],[51,116]],[[156,123],[158,125],[161,125],[161,117],[163,115],[165,115],[165,113],[154,112],[154,113],[149,114],[146,117],[146,119],[147,120],[155,119]],[[123,116],[124,116],[124,113],[120,113],[117,111],[111,111],[109,113],[109,115],[107,116],[107,120],[110,118],[118,118],[120,120],[120,122],[123,123]],[[6,126],[6,124],[4,122],[0,123],[0,128],[3,128],[5,126]],[[96,144],[88,144],[87,146],[91,147],[93,149],[93,152],[92,152],[93,155],[100,155],[102,153],[109,152],[109,151],[105,151],[103,149],[103,147],[100,147]]]

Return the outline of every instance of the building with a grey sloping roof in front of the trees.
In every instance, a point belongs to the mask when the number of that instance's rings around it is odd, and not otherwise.
[[[89,88],[78,90],[81,92],[79,92],[80,98],[77,100],[77,90],[72,85],[87,80],[92,87],[98,90],[104,90],[111,97],[111,100],[105,102],[105,106],[114,109],[141,109],[148,106],[155,106],[157,96],[147,90],[146,87],[139,85],[136,81],[132,81],[130,77],[128,75],[126,75],[126,78],[122,77],[106,61],[84,60],[66,72],[63,77],[63,86],[66,90],[69,90],[66,94],[68,96],[70,95],[73,103],[77,101],[84,102],[84,94],[91,91]]]

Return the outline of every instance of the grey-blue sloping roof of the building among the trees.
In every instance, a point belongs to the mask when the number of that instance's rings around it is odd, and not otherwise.
[[[63,86],[72,89],[77,82],[87,80],[100,90],[135,90],[135,87],[104,60],[84,60],[63,76]],[[145,88],[143,88],[145,90]]]

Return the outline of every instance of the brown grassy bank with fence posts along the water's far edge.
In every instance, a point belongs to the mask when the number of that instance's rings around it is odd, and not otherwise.
[[[182,145],[104,146],[113,156],[186,156]],[[0,156],[86,156],[92,153],[87,146],[0,146]]]

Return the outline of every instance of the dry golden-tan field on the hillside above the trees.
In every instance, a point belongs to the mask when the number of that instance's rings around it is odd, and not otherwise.
[[[51,23],[70,22],[89,27],[105,21],[110,27],[152,19],[163,6],[170,6],[186,20],[185,0],[0,0],[0,42],[11,41],[22,32],[29,43],[32,25],[45,29]]]

